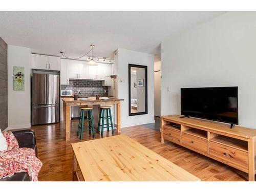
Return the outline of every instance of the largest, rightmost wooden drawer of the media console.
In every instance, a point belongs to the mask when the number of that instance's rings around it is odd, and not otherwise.
[[[209,141],[209,154],[239,166],[248,168],[248,153]]]

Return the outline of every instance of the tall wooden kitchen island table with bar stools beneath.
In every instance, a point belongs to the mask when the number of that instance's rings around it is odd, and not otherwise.
[[[88,105],[88,106],[98,106],[104,105],[104,104],[116,104],[116,128],[117,133],[120,132],[120,108],[121,108],[121,102],[123,99],[117,99],[117,98],[109,98],[109,99],[99,99],[96,100],[95,98],[90,98],[89,100],[74,100],[74,98],[61,98],[63,101],[63,118],[65,123],[65,129],[66,129],[66,141],[70,140],[70,106],[80,106],[80,105]],[[98,117],[97,117],[98,118]]]

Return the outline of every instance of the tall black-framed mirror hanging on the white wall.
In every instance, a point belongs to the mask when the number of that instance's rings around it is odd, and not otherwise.
[[[147,114],[147,66],[129,64],[129,116]]]

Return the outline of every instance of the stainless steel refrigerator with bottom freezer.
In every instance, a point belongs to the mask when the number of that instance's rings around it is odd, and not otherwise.
[[[59,74],[33,71],[32,125],[59,122]]]

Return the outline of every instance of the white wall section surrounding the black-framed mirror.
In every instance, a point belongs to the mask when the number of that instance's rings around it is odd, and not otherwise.
[[[129,116],[128,64],[147,66],[148,114]],[[154,55],[132,50],[118,49],[115,57],[117,68],[117,97],[121,101],[121,127],[153,123],[154,120]],[[122,82],[120,82],[120,79]]]

